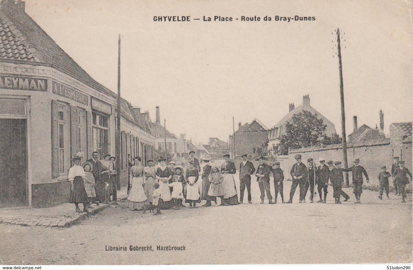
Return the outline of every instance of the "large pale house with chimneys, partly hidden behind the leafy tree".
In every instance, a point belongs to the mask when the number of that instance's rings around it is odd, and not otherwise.
[[[285,134],[285,125],[291,121],[292,117],[304,110],[317,114],[318,119],[323,119],[323,123],[327,125],[325,134],[329,137],[336,135],[334,124],[326,117],[320,114],[316,109],[310,106],[310,97],[308,95],[303,96],[303,105],[295,108],[294,103],[290,103],[289,112],[285,115],[277,124],[275,124],[268,132],[268,154],[275,155],[274,148],[280,143],[280,138]]]

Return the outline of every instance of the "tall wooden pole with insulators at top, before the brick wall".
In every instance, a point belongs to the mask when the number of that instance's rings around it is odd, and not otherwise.
[[[341,99],[341,131],[342,131],[342,146],[343,146],[343,166],[348,168],[347,164],[347,140],[346,140],[346,116],[344,114],[344,88],[343,88],[343,69],[341,63],[341,48],[340,48],[340,29],[337,28],[337,50],[338,50],[338,67],[340,72],[340,99]],[[344,177],[346,184],[345,186],[350,186],[349,183],[349,173],[344,172]]]

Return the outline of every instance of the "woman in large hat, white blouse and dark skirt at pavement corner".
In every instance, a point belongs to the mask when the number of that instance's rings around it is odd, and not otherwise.
[[[89,209],[88,194],[85,190],[85,170],[81,166],[81,160],[83,158],[83,153],[78,152],[74,155],[71,160],[74,162],[73,167],[69,169],[69,181],[70,181],[70,202],[74,203],[76,206],[76,212],[81,213],[82,210],[79,208],[79,203],[83,203],[83,212],[90,213],[92,210]]]

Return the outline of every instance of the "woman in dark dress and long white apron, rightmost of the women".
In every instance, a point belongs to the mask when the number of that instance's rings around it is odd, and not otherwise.
[[[223,174],[222,186],[224,189],[224,199],[221,202],[222,205],[236,205],[238,202],[237,189],[235,189],[235,164],[230,161],[230,155],[223,155],[225,162],[222,163],[221,173]]]

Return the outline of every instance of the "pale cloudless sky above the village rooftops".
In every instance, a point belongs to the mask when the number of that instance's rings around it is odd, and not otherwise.
[[[179,136],[228,141],[238,122],[273,127],[289,103],[311,106],[341,136],[335,32],[343,33],[342,67],[347,135],[358,126],[412,121],[411,2],[388,1],[134,1],[26,0],[26,12],[90,76],[121,94]],[[315,21],[275,21],[275,16]],[[154,22],[191,16],[191,22]],[[203,22],[203,16],[233,17]],[[241,16],[261,17],[241,22]],[[263,21],[264,16],[272,18]],[[196,21],[193,18],[200,18]],[[239,20],[235,20],[239,18]],[[345,47],[345,48],[344,48]],[[333,57],[334,56],[334,57]]]

